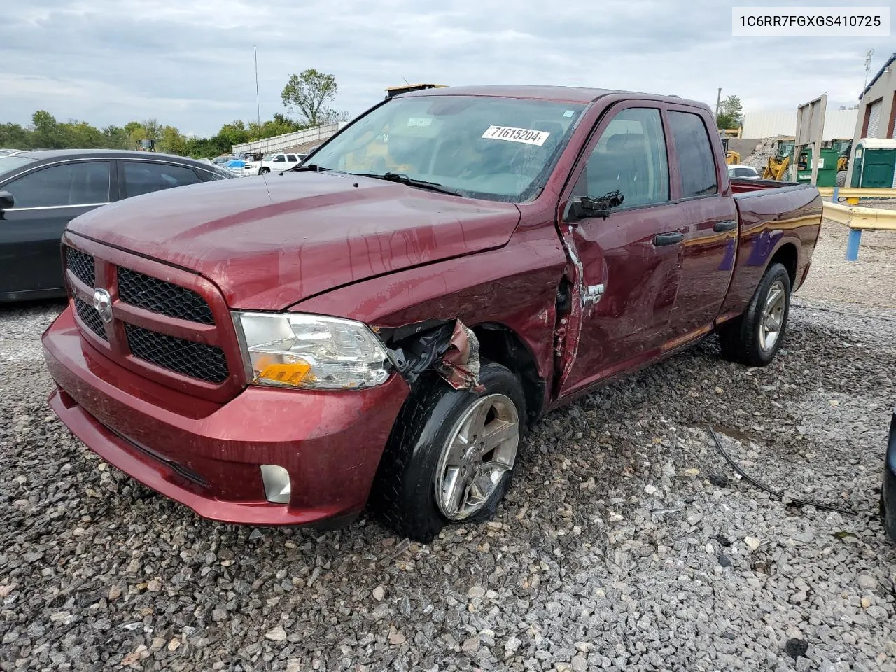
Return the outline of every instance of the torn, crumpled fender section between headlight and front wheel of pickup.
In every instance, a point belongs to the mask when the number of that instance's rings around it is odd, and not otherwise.
[[[481,392],[479,341],[460,320],[426,320],[401,327],[374,329],[392,366],[413,386],[434,371],[455,390]]]

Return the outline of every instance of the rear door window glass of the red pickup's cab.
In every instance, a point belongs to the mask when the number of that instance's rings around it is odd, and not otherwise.
[[[682,198],[719,194],[716,159],[702,116],[670,110],[669,132],[675,143]]]

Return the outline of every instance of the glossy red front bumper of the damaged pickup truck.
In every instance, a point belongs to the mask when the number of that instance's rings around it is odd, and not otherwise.
[[[59,388],[50,406],[73,434],[117,469],[214,521],[296,525],[358,514],[409,392],[392,375],[351,392],[250,386],[217,404],[116,365],[81,338],[71,308],[43,345]],[[289,471],[289,504],[264,498],[262,464]]]

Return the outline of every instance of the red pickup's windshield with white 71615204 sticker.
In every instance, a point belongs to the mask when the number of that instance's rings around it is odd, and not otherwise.
[[[358,175],[398,173],[461,195],[520,202],[544,186],[583,108],[484,96],[396,98],[308,163]]]

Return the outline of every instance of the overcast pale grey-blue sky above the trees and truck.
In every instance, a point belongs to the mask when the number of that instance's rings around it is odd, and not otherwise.
[[[125,125],[155,117],[210,135],[286,112],[290,73],[316,68],[339,84],[333,107],[356,116],[407,80],[559,84],[675,94],[746,112],[794,109],[828,94],[854,105],[896,40],[733,38],[732,6],[768,0],[24,0],[6,3],[0,35],[0,123]],[[840,0],[793,6],[849,4]],[[892,0],[866,0],[886,5]],[[528,5],[528,6],[527,6]]]

